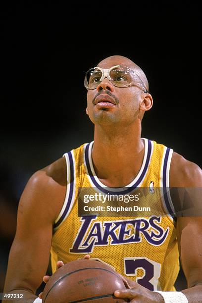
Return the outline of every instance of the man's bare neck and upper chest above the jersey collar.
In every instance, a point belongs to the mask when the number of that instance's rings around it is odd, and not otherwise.
[[[110,187],[126,186],[138,174],[144,158],[141,125],[106,131],[95,127],[92,159],[100,181]]]

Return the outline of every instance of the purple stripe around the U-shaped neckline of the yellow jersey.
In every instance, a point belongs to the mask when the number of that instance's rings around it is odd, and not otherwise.
[[[146,163],[145,163],[145,167],[142,171],[141,176],[139,177],[139,179],[130,187],[127,188],[124,191],[121,192],[111,192],[109,190],[105,190],[101,185],[98,184],[98,182],[96,181],[95,177],[93,176],[92,170],[91,170],[91,166],[90,166],[90,162],[89,162],[89,147],[90,147],[90,143],[86,146],[86,150],[85,150],[85,159],[86,159],[86,166],[89,172],[89,176],[93,182],[93,184],[99,189],[101,190],[103,193],[105,194],[111,194],[111,195],[124,195],[127,193],[130,193],[132,190],[134,190],[134,188],[138,187],[138,185],[141,183],[141,181],[143,180],[145,173],[148,169],[149,166],[149,162],[150,162],[150,156],[151,156],[151,152],[152,152],[152,143],[151,140],[148,140],[148,154],[147,154],[147,159],[146,159]],[[106,186],[107,188],[107,186]]]

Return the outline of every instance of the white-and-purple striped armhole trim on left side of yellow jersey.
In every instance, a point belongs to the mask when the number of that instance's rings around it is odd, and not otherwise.
[[[75,199],[76,175],[75,175],[75,159],[74,152],[66,152],[63,154],[66,159],[67,168],[67,188],[62,209],[54,222],[53,231],[55,232],[69,215]]]

